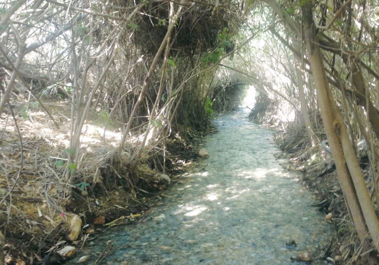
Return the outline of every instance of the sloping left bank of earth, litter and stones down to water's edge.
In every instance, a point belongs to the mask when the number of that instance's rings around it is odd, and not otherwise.
[[[136,221],[161,203],[169,184],[180,181],[176,175],[197,159],[206,134],[183,129],[185,133],[171,135],[162,146],[146,146],[143,159],[131,168],[133,145],[119,157],[115,146],[120,130],[107,124],[101,112],[91,112],[81,143],[84,155],[72,168],[73,178],[65,181],[70,107],[64,101],[44,104],[59,129],[38,105],[18,106],[14,111],[23,114],[17,116],[17,126],[10,116],[0,119],[6,172],[0,174],[0,229],[6,264],[60,262],[64,258],[57,253],[65,246],[76,251],[104,228]]]

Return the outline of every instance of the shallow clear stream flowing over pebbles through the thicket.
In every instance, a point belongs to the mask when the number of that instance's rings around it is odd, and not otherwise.
[[[273,157],[271,132],[243,112],[215,124],[205,145],[210,157],[183,175],[185,184],[167,191],[150,216],[105,231],[81,254],[93,262],[110,239],[104,264],[301,264],[290,257],[303,250],[312,264],[325,264],[316,257],[332,228],[297,176]],[[286,245],[290,240],[297,245]]]

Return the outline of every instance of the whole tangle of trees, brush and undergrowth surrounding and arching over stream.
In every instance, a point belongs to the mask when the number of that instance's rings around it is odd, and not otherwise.
[[[141,211],[158,171],[248,85],[250,117],[277,125],[293,160],[317,153],[319,178],[337,176],[338,234],[355,238],[338,262],[369,262],[379,251],[378,12],[375,0],[4,1],[6,262],[41,262],[72,213],[94,223]],[[325,209],[335,192],[320,196]],[[115,209],[125,197],[134,208]]]

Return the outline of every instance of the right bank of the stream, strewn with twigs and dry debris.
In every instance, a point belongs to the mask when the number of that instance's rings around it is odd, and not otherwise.
[[[266,122],[264,122],[266,120]],[[333,264],[375,265],[379,256],[371,245],[363,250],[344,202],[331,155],[317,144],[310,146],[303,125],[296,122],[282,123],[270,118],[255,118],[275,132],[275,142],[280,152],[275,156],[288,159],[283,165],[289,171],[301,174],[301,184],[309,189],[318,200],[314,206],[325,216],[325,220],[335,227],[336,236],[328,249],[329,261]],[[324,135],[319,135],[324,137]],[[368,156],[362,143],[358,143],[358,160],[365,176],[369,174]]]

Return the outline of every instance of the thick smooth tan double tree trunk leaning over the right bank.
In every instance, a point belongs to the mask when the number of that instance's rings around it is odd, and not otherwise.
[[[311,1],[302,7],[305,41],[308,50],[310,68],[317,92],[325,133],[331,148],[338,180],[347,206],[350,209],[358,237],[365,245],[367,228],[376,249],[379,250],[379,221],[370,200],[363,174],[359,168],[342,115],[329,90],[325,69],[322,63],[318,40],[312,20]],[[367,227],[366,227],[367,225]]]

